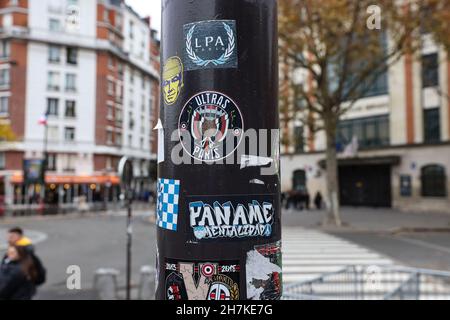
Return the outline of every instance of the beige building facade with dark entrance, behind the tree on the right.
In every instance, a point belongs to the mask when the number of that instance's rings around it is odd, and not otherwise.
[[[450,213],[449,61],[424,35],[420,57],[403,57],[343,116],[337,134],[342,205]],[[326,195],[323,132],[281,118],[282,136],[292,141],[282,147],[283,191],[304,185],[311,198]]]

